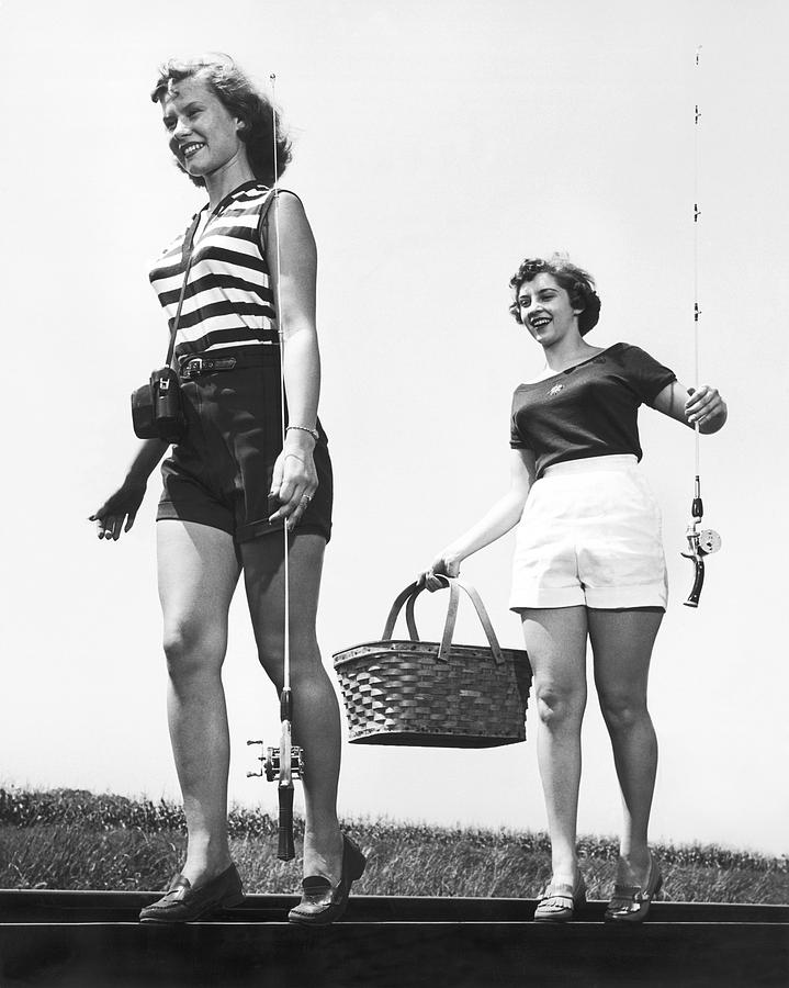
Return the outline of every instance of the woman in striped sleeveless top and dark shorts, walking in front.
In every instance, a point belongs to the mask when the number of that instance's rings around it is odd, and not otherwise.
[[[364,857],[337,820],[339,711],[315,635],[331,530],[331,465],[317,418],[315,242],[301,201],[272,191],[275,162],[281,172],[290,160],[274,108],[232,59],[171,60],[151,99],[178,167],[205,189],[208,202],[192,237],[174,345],[188,426],[162,464],[157,514],[168,718],[189,843],[181,873],[140,919],[189,921],[243,898],[227,840],[227,615],[243,572],[260,663],[279,693],[284,525],[294,741],[308,767],[304,895],[289,918],[327,923],[345,910]],[[184,237],[150,273],[171,327],[184,279]],[[116,541],[128,531],[167,451],[159,440],[143,442],[121,487],[92,516],[99,538]]]

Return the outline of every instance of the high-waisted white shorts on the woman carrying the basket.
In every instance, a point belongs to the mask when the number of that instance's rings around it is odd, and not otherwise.
[[[549,467],[518,524],[510,609],[667,602],[661,509],[635,457]]]

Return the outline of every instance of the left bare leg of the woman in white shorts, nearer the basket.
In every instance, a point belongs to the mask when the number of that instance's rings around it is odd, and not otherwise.
[[[586,706],[586,608],[521,610],[540,718],[537,756],[555,882],[573,884],[581,784],[581,725]]]

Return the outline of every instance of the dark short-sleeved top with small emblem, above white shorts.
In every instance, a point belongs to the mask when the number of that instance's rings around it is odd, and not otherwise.
[[[651,405],[676,374],[630,344],[618,343],[583,363],[512,395],[510,442],[530,449],[537,476],[566,460],[633,453],[642,457],[638,411]]]

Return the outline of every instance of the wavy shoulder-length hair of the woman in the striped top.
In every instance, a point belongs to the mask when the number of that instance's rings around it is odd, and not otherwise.
[[[150,99],[158,103],[171,82],[200,76],[208,83],[225,109],[244,122],[239,137],[246,144],[252,173],[266,186],[274,183],[273,127],[277,122],[277,178],[291,160],[291,142],[284,133],[280,113],[268,97],[259,92],[249,78],[227,55],[211,53],[194,58],[171,58],[159,68]],[[183,165],[178,167],[189,175]],[[201,176],[189,175],[195,186],[204,186]]]

